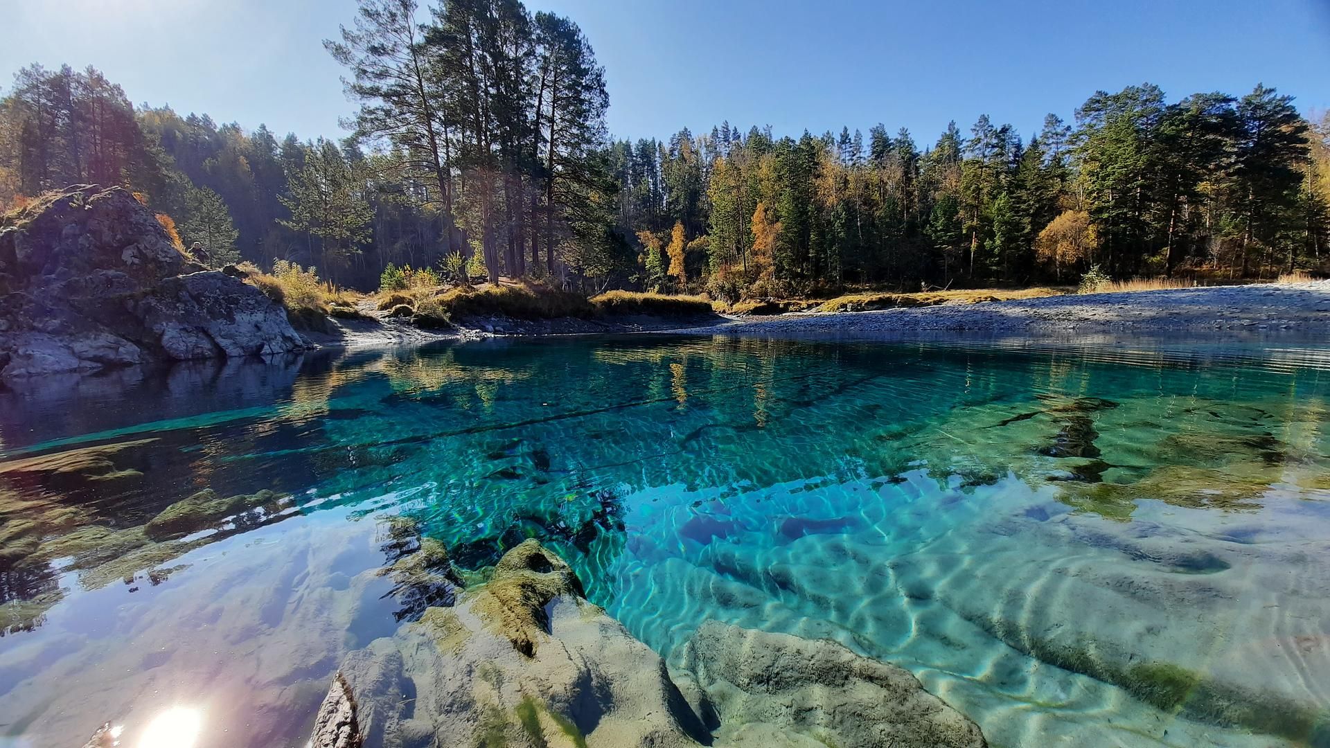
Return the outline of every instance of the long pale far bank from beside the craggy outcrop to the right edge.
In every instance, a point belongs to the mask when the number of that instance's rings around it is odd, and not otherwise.
[[[363,303],[359,319],[330,318],[330,331],[302,334],[318,347],[382,347],[488,337],[559,337],[625,333],[693,333],[763,338],[882,338],[966,333],[998,337],[1188,333],[1249,337],[1330,334],[1330,281],[1206,286],[1105,294],[1052,295],[980,303],[940,303],[875,311],[797,311],[771,317],[725,314],[670,319],[471,319],[424,330]]]

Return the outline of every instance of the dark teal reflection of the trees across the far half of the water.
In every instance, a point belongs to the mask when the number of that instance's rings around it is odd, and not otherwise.
[[[55,496],[43,507],[0,499],[0,534],[122,531],[189,487],[274,487],[305,502],[317,486],[336,496],[319,506],[408,506],[460,570],[539,538],[605,600],[625,546],[622,502],[645,488],[724,494],[920,466],[966,486],[1013,471],[1053,480],[1076,508],[1125,519],[1141,498],[1241,510],[1273,483],[1330,487],[1315,386],[924,345],[637,338],[358,353],[322,361],[266,407],[82,455],[96,472],[0,463],[0,482]],[[55,510],[73,514],[45,515]],[[13,518],[41,530],[16,532]],[[241,514],[210,539],[274,520]],[[32,566],[20,574],[0,559],[4,602],[59,594],[49,559],[9,555]],[[162,563],[145,562],[130,574]]]

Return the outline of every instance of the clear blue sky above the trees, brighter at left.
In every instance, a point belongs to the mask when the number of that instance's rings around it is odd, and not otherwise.
[[[354,0],[3,3],[0,84],[96,65],[134,102],[302,138],[351,112],[321,40]],[[609,126],[665,137],[721,120],[777,134],[904,125],[920,145],[988,113],[1027,136],[1093,91],[1170,98],[1257,81],[1330,109],[1330,0],[533,0],[572,16],[606,68]]]

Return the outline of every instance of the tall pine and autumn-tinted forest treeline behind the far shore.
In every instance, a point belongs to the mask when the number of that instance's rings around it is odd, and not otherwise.
[[[423,23],[422,23],[423,21]],[[339,39],[352,136],[133,106],[96,69],[24,68],[0,98],[0,205],[69,184],[140,194],[214,264],[285,260],[793,297],[883,285],[1258,277],[1330,269],[1330,116],[1257,85],[1096,92],[1028,138],[982,116],[777,137],[724,122],[613,140],[571,19],[517,0],[360,0]]]

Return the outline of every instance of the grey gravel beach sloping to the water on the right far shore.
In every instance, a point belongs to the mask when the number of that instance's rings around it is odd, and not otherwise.
[[[964,331],[991,335],[1330,334],[1330,281],[1208,286],[946,303],[838,314],[728,317],[689,333],[755,337],[896,337]]]

